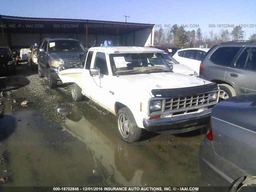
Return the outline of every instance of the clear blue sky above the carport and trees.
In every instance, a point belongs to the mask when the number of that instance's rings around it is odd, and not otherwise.
[[[219,35],[224,25],[243,25],[244,39],[256,33],[254,0],[1,0],[0,14],[41,18],[73,18],[156,24],[156,30],[173,24],[196,30],[203,36]],[[221,26],[218,27],[217,25]],[[166,27],[164,26],[166,25]],[[191,27],[190,27],[191,25]],[[209,27],[212,26],[212,28]],[[215,25],[215,26],[214,26]]]

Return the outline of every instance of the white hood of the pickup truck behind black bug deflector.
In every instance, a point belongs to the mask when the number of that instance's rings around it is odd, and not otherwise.
[[[116,82],[121,85],[130,85],[132,88],[146,90],[150,94],[155,89],[186,88],[212,83],[201,78],[173,72],[120,75],[117,78],[119,79]]]

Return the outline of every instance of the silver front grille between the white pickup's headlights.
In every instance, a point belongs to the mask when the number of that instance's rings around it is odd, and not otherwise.
[[[168,98],[164,100],[164,111],[185,109],[209,104],[209,97],[210,93],[203,93],[194,96]]]

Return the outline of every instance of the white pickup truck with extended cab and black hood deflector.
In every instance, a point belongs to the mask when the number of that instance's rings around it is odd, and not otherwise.
[[[60,70],[63,83],[74,83],[72,98],[90,98],[116,115],[126,142],[142,129],[170,134],[208,124],[219,88],[215,83],[172,72],[164,51],[150,47],[93,47],[84,68]]]

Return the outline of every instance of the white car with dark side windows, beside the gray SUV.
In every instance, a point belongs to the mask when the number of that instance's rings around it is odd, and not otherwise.
[[[208,52],[208,48],[186,48],[178,50],[173,58],[180,64],[184,64],[194,69],[199,74],[200,63],[204,55]]]

